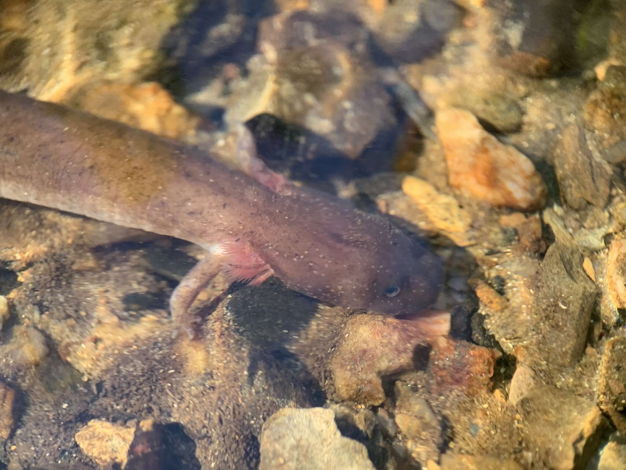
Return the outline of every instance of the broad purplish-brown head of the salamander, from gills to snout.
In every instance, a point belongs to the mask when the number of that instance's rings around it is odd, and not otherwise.
[[[280,202],[280,216],[289,213],[297,223],[264,256],[288,287],[386,315],[413,315],[433,306],[443,263],[387,219],[310,190],[293,189]]]

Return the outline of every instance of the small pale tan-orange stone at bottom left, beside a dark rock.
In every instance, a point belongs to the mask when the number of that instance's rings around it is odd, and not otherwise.
[[[136,426],[118,426],[108,421],[92,419],[87,426],[76,433],[74,439],[81,451],[98,465],[126,466],[128,449],[135,437]]]

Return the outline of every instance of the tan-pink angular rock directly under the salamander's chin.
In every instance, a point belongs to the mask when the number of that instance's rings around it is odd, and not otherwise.
[[[332,378],[342,400],[379,405],[385,399],[382,377],[413,368],[414,350],[447,335],[449,314],[400,320],[384,315],[354,315],[331,359]]]

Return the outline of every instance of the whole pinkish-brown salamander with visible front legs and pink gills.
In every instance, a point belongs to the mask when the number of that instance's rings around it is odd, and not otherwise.
[[[185,239],[207,250],[170,299],[186,326],[220,270],[258,285],[277,276],[322,301],[424,315],[439,259],[386,219],[295,187],[254,155],[246,173],[183,145],[87,113],[0,91],[0,197]]]

